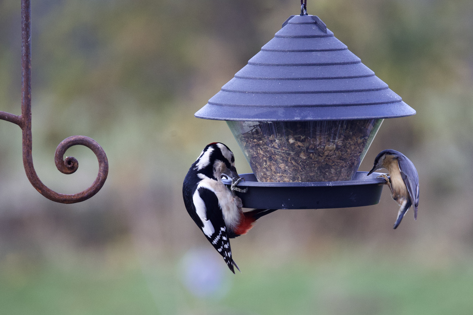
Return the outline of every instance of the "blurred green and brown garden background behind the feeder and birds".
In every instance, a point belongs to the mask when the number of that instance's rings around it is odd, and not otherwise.
[[[19,8],[0,0],[0,110],[14,114]],[[56,146],[73,135],[102,145],[110,171],[93,198],[55,204],[26,179],[20,129],[0,121],[0,313],[471,314],[473,2],[307,8],[417,111],[386,119],[360,167],[386,148],[406,154],[420,177],[417,221],[411,210],[392,229],[388,189],[370,207],[280,210],[232,240],[242,270],[233,275],[186,213],[182,181],[215,141],[234,150],[240,173],[251,170],[225,122],[193,113],[299,2],[35,0],[36,171],[58,192],[88,187],[98,165],[87,148],[67,153],[76,173],[54,166]],[[195,283],[194,262],[213,266]],[[214,286],[200,288],[206,281]]]

